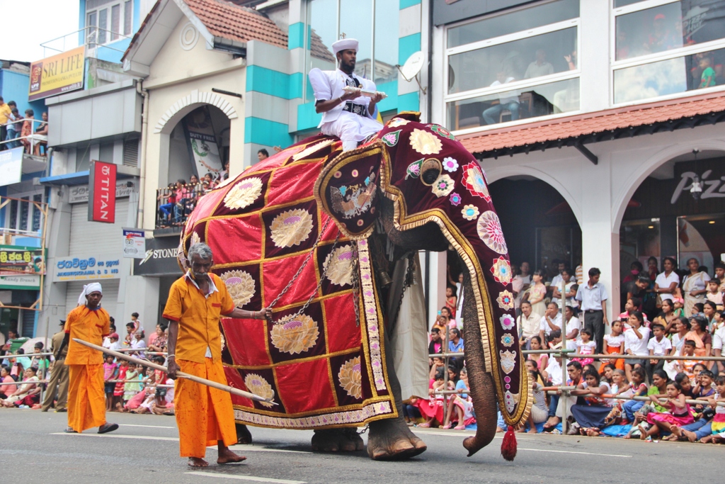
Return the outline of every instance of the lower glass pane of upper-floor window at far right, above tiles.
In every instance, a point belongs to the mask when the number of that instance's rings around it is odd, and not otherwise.
[[[614,102],[677,94],[725,83],[725,49],[614,71]]]

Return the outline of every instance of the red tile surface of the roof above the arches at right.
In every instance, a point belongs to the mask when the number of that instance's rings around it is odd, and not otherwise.
[[[725,112],[724,93],[618,107],[524,126],[510,126],[486,131],[483,134],[473,133],[456,137],[468,151],[479,154],[549,141],[573,139],[623,128],[666,123],[716,112]]]

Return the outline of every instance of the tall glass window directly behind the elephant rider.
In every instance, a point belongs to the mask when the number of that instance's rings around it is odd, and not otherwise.
[[[389,0],[309,0],[305,38],[307,72],[313,67],[334,70],[332,44],[344,34],[360,47],[355,73],[372,79],[384,91],[397,80],[399,3]],[[374,22],[373,22],[374,20]],[[305,77],[305,99],[315,99]]]

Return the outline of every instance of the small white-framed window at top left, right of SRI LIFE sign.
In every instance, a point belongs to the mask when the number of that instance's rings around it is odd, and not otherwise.
[[[98,0],[87,5],[93,8],[86,12],[89,46],[115,42],[133,33],[133,0]]]

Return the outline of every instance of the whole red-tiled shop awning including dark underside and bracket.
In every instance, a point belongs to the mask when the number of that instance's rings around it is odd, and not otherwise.
[[[597,157],[585,144],[695,128],[723,120],[725,94],[716,93],[589,112],[457,138],[479,160],[548,148],[576,147],[597,164]]]

